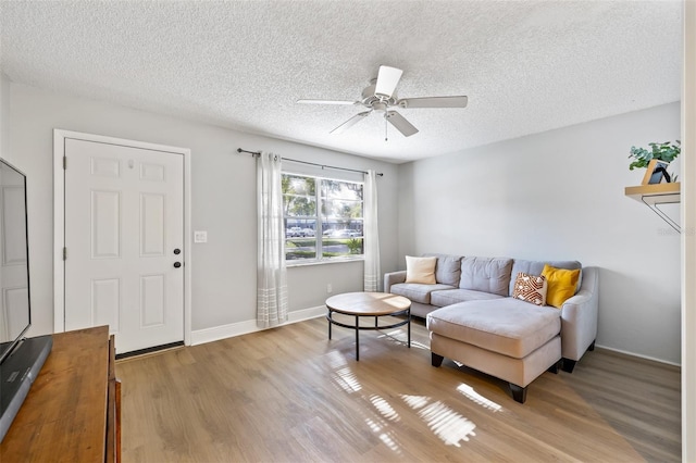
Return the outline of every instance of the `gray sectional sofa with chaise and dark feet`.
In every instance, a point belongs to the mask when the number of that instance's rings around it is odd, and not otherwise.
[[[577,261],[527,261],[424,254],[436,258],[435,283],[406,283],[407,272],[384,276],[384,290],[411,300],[411,314],[426,318],[432,363],[444,358],[509,381],[524,403],[526,387],[559,365],[572,372],[594,349],[599,271]],[[581,270],[575,293],[560,308],[512,297],[520,272],[540,275],[544,265]],[[561,362],[562,361],[562,362]]]

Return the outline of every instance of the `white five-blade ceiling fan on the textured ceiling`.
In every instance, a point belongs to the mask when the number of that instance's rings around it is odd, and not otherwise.
[[[365,118],[372,112],[383,113],[385,120],[385,140],[387,139],[387,122],[396,127],[405,137],[418,134],[418,128],[391,108],[467,108],[469,99],[464,96],[397,98],[394,90],[401,78],[401,74],[403,74],[403,71],[396,67],[380,66],[377,77],[370,80],[370,85],[362,90],[362,99],[359,101],[300,99],[297,100],[297,102],[307,104],[353,104],[368,109],[368,111],[356,114],[334,128],[331,132],[332,134],[340,134]]]

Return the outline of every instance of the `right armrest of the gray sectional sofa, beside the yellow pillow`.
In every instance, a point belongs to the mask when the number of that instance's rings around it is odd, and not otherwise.
[[[580,290],[561,308],[561,355],[580,360],[597,338],[599,268],[584,267]]]

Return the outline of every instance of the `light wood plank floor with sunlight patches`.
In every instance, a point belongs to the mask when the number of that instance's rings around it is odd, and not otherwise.
[[[124,462],[678,462],[680,370],[588,352],[512,400],[445,360],[427,331],[315,318],[119,361]]]

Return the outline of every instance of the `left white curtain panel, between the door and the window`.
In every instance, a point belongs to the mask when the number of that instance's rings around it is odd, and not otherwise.
[[[287,321],[287,270],[279,155],[261,152],[257,160],[257,325],[268,328]]]

